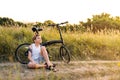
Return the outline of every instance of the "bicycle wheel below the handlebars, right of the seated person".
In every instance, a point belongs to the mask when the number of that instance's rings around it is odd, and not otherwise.
[[[70,62],[70,52],[65,46],[60,47],[60,57],[65,63]]]

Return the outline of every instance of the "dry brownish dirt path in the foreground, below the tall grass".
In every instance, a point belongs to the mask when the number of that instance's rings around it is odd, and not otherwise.
[[[58,72],[0,63],[0,80],[120,80],[120,61],[54,62]]]

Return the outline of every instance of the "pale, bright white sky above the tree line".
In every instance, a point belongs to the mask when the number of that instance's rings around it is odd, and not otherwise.
[[[119,0],[0,0],[0,17],[22,22],[79,23],[92,15],[120,16]]]

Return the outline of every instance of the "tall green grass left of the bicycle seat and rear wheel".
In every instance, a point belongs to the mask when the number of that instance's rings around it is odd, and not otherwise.
[[[32,32],[29,28],[0,27],[0,62],[14,59],[17,46],[24,42],[31,42]],[[12,59],[11,59],[12,60]]]

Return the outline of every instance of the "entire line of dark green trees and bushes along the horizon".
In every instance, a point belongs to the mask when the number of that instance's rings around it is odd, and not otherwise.
[[[18,26],[18,27],[29,27],[34,23],[22,23],[18,21],[14,21],[11,18],[0,17],[0,25],[1,26]],[[46,26],[48,24],[56,24],[52,20],[46,20],[43,23],[36,22],[36,26]],[[112,17],[108,13],[101,13],[99,15],[93,15],[92,18],[88,18],[86,22],[80,21],[79,24],[67,24],[65,27],[61,27],[61,29],[65,32],[67,31],[106,31],[106,30],[119,30],[120,31],[120,17],[115,16]]]

